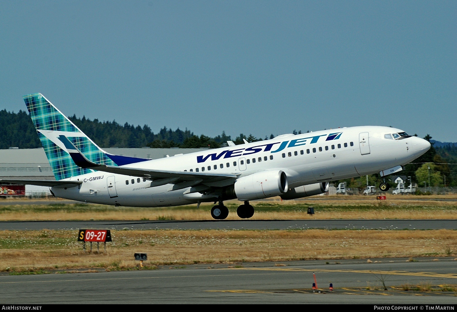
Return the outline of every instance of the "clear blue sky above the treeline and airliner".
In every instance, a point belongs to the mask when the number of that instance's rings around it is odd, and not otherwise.
[[[456,1],[1,1],[0,109],[257,137],[457,141]]]

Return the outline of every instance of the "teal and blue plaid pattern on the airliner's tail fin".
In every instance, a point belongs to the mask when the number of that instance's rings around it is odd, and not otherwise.
[[[43,144],[49,164],[53,168],[56,180],[93,172],[83,169],[71,159],[59,135],[65,135],[92,162],[116,166],[92,140],[78,129],[42,94],[24,95],[24,101]]]

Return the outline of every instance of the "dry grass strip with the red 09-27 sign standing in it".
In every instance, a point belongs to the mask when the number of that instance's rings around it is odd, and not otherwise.
[[[0,271],[73,268],[133,269],[135,252],[147,267],[457,255],[452,230],[121,230],[100,254],[84,252],[77,231],[0,232]],[[86,243],[87,244],[87,243]],[[87,244],[89,246],[89,244]]]

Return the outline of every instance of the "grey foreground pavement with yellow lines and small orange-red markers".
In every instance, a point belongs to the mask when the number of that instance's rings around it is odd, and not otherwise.
[[[338,263],[340,262],[340,263]],[[393,286],[449,285],[457,261],[419,259],[262,262],[190,265],[158,270],[0,275],[3,304],[45,303],[367,303],[453,304],[452,291]],[[232,266],[232,267],[229,267]],[[316,275],[320,293],[311,290]],[[333,283],[334,292],[329,291]],[[384,290],[383,282],[387,287]],[[433,291],[433,290],[436,291]],[[442,290],[442,288],[440,288]]]

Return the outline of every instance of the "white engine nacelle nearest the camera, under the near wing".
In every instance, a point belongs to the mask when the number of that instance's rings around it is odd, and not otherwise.
[[[242,201],[278,196],[287,192],[287,176],[282,170],[257,172],[237,179],[234,189]]]

